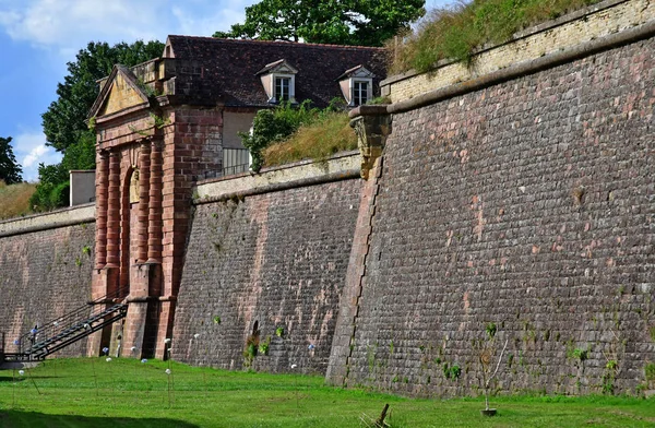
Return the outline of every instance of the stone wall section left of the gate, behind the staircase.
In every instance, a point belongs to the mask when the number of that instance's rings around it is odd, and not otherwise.
[[[7,352],[35,324],[56,319],[91,298],[94,206],[0,223],[0,331]],[[81,356],[80,341],[55,356]]]

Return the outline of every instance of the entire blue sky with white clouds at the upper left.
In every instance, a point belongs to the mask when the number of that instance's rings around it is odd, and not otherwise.
[[[57,99],[66,63],[88,41],[211,36],[243,22],[257,0],[0,0],[0,136],[12,136],[23,178],[60,154],[46,146],[40,115]],[[428,9],[451,2],[427,0]]]

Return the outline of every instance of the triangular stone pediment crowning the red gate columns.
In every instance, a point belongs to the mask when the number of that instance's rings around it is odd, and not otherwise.
[[[139,80],[123,66],[114,66],[111,74],[103,85],[91,111],[90,118],[112,115],[132,107],[148,105],[147,95],[139,84]]]

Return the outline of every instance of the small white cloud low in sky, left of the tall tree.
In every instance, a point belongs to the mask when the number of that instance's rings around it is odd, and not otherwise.
[[[61,153],[46,145],[46,135],[41,132],[23,132],[11,142],[16,160],[23,167],[23,179],[38,179],[38,164],[52,165],[61,162]]]

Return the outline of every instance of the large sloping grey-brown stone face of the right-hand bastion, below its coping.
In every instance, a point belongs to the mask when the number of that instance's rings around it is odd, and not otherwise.
[[[645,38],[393,116],[334,383],[475,392],[507,340],[493,389],[645,385],[653,52]]]

